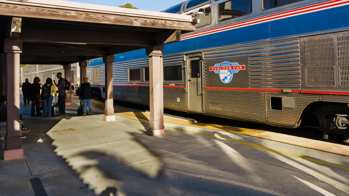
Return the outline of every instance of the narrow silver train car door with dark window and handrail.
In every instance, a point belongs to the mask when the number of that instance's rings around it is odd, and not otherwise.
[[[190,57],[187,63],[188,108],[193,112],[203,112],[201,59],[201,56]]]

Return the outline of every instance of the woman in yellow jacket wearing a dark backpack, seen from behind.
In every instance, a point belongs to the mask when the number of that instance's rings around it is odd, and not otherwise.
[[[53,101],[53,93],[55,94],[54,96],[57,96],[56,86],[53,85],[52,79],[48,77],[41,91],[41,98],[43,101],[45,118],[50,118],[52,115],[51,107],[52,107],[52,101]]]

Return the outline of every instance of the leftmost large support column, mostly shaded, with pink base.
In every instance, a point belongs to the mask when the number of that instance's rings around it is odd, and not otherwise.
[[[20,134],[20,53],[22,40],[5,39],[7,66],[7,132],[4,160],[23,158]]]

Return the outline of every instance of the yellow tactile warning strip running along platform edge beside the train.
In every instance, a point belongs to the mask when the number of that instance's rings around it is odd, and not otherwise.
[[[104,107],[103,102],[96,101],[96,100],[91,100],[91,102],[101,107]],[[121,108],[121,107],[115,107],[114,111],[116,113],[133,116],[138,119],[143,119],[145,121],[148,121],[148,119],[150,118],[149,113],[139,112],[139,111],[129,112],[129,110],[127,110],[126,108]],[[267,140],[273,140],[277,142],[283,142],[287,144],[302,146],[305,148],[311,148],[315,150],[349,156],[349,146],[334,144],[334,143],[329,143],[324,141],[318,141],[318,140],[311,140],[303,137],[296,137],[296,136],[274,133],[274,132],[258,130],[258,129],[247,129],[247,128],[239,128],[239,127],[190,122],[190,121],[178,120],[178,119],[167,118],[167,117],[164,117],[164,122],[169,122],[177,125],[212,129],[212,130],[218,130],[218,131],[226,131],[226,132],[236,133],[236,134],[250,135],[253,137],[264,138]]]

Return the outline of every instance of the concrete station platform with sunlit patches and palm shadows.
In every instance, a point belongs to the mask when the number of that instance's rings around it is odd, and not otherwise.
[[[67,115],[44,119],[21,105],[25,158],[0,161],[0,196],[349,195],[345,145],[170,116],[153,137],[146,112],[115,106],[105,122],[102,102],[92,116],[76,116],[78,106],[73,98]]]

